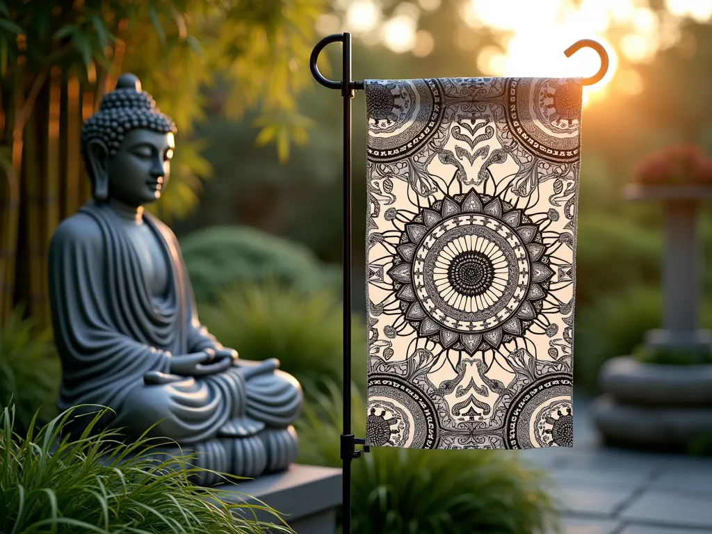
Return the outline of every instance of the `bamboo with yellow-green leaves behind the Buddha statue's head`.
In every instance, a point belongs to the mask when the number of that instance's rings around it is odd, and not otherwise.
[[[0,1],[0,317],[23,302],[49,324],[46,248],[53,230],[90,196],[80,125],[133,72],[179,130],[172,187],[151,209],[164,219],[197,207],[212,174],[193,135],[207,110],[253,140],[307,140],[297,108],[323,0]],[[214,88],[219,87],[219,90]],[[252,141],[252,140],[251,140]]]

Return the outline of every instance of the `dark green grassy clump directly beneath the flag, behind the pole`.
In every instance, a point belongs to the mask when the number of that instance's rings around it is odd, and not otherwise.
[[[362,392],[352,395],[354,431],[365,435]],[[298,424],[300,461],[341,466],[341,393],[329,391]],[[352,529],[374,534],[537,533],[555,523],[543,473],[504,451],[379,447],[352,468]]]

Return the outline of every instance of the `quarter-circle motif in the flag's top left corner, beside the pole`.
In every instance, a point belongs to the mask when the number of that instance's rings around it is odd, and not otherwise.
[[[392,162],[418,152],[441,122],[438,80],[369,80],[365,93],[373,161]]]

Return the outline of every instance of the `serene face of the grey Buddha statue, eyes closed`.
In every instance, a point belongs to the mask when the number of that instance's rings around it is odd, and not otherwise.
[[[168,183],[174,146],[171,132],[128,132],[106,165],[109,196],[130,206],[159,199]]]

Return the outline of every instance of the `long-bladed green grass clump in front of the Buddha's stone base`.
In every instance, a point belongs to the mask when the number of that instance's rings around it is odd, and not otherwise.
[[[65,412],[20,438],[14,410],[0,414],[0,532],[262,533],[253,512],[274,513],[195,486],[190,477],[204,470],[189,465],[191,456],[159,461],[151,456],[155,440],[125,445],[115,431],[63,439],[70,417]]]

